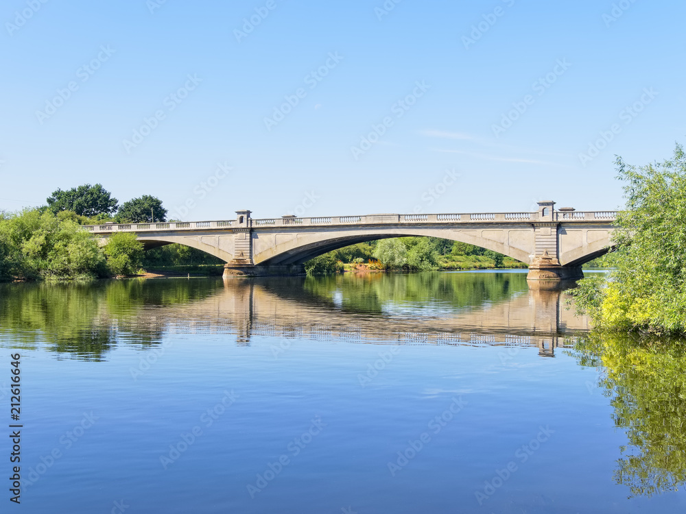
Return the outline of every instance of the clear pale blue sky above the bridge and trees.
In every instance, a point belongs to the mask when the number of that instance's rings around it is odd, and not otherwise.
[[[5,0],[0,209],[98,182],[193,220],[617,208],[615,155],[686,139],[684,19],[667,0]]]

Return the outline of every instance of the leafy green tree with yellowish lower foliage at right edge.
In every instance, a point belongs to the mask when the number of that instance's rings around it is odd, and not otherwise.
[[[686,332],[686,156],[635,167],[617,158],[626,209],[613,243],[622,252],[606,277],[580,282],[580,310],[609,330]]]

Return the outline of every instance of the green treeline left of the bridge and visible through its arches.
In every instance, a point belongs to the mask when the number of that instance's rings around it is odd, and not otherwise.
[[[47,205],[0,212],[0,280],[104,278],[150,269],[222,265],[219,258],[183,245],[143,251],[135,234],[117,232],[99,246],[80,225],[167,221],[160,199],[143,195],[119,205],[101,184],[58,189]],[[305,263],[309,274],[344,269],[431,271],[526,267],[522,262],[466,243],[401,237],[359,243]]]

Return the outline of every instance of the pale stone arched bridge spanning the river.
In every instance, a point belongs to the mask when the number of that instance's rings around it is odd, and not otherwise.
[[[404,236],[433,236],[469,243],[529,265],[529,280],[583,277],[581,266],[611,249],[615,211],[555,209],[536,212],[377,214],[255,219],[250,210],[226,221],[104,223],[85,225],[102,244],[115,232],[137,234],[145,249],[179,243],[216,256],[224,276],[304,273],[303,263],[355,243]]]

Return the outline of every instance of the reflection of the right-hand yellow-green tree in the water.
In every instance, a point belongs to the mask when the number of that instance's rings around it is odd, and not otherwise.
[[[637,342],[591,334],[582,365],[602,365],[600,387],[615,408],[620,448],[615,480],[632,495],[652,496],[686,484],[686,341]]]

